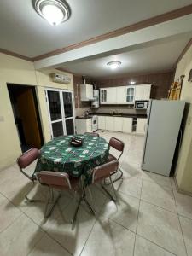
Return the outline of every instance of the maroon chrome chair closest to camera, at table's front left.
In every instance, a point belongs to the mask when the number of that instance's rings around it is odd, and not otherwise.
[[[53,211],[56,202],[61,197],[61,190],[73,190],[73,192],[75,192],[75,193],[78,192],[79,189],[82,190],[78,206],[73,215],[72,224],[75,222],[75,220],[77,218],[79,206],[83,200],[86,203],[86,205],[89,207],[90,212],[95,215],[95,212],[90,207],[90,203],[86,199],[84,187],[79,186],[79,183],[81,183],[79,178],[75,178],[75,177],[69,178],[69,175],[66,172],[52,172],[52,171],[37,172],[36,177],[40,184],[49,187],[49,193],[48,193],[48,197],[47,197],[47,201],[46,201],[46,205],[45,205],[45,211],[44,211],[45,218],[48,218],[50,216],[51,212]],[[55,201],[54,201],[53,189],[59,189],[59,194],[56,197]],[[49,208],[49,211],[48,211],[48,205],[49,205],[50,199],[53,201],[53,204]]]

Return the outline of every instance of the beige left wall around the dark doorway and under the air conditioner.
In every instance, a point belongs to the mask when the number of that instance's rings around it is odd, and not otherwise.
[[[0,53],[0,169],[15,163],[21,153],[7,83],[36,86],[44,141],[47,142],[50,139],[50,131],[44,89],[51,87],[73,90],[72,74],[67,73],[72,83],[65,85],[51,81],[49,73],[53,72],[55,70],[36,72],[32,62]],[[62,72],[56,71],[56,73]]]

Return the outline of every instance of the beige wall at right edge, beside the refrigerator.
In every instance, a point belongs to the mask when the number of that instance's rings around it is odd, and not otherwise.
[[[177,162],[178,188],[192,192],[192,82],[188,81],[189,71],[192,69],[192,45],[177,64],[175,80],[185,75],[181,100],[189,102],[189,113],[183,135],[182,148]]]

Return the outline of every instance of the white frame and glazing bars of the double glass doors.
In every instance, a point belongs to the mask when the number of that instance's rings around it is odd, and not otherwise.
[[[50,117],[50,111],[49,111],[49,99],[48,99],[48,91],[57,91],[59,92],[59,96],[60,96],[60,102],[61,102],[61,119],[55,120],[55,121],[51,121],[51,117]],[[65,118],[65,109],[63,106],[63,96],[62,96],[62,92],[70,92],[72,94],[72,107],[73,107],[73,117],[69,117],[69,118]],[[46,100],[46,105],[47,105],[47,111],[48,111],[48,117],[49,117],[49,131],[50,131],[50,137],[51,139],[54,138],[53,136],[53,129],[52,129],[52,124],[56,123],[56,122],[62,122],[62,127],[63,127],[63,133],[64,135],[67,135],[67,129],[66,129],[66,120],[68,119],[73,119],[73,130],[74,133],[75,131],[75,111],[74,111],[74,93],[73,90],[67,90],[67,89],[56,89],[56,88],[46,88],[44,90],[44,94],[45,94],[45,100]]]

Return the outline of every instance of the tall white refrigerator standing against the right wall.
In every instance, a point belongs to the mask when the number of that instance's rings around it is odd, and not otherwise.
[[[185,102],[152,100],[143,148],[142,169],[170,176]]]

